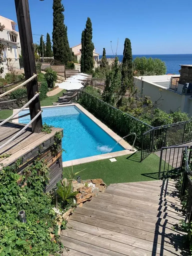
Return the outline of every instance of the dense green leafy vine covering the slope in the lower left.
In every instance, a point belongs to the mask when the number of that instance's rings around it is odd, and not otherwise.
[[[40,159],[34,161],[19,184],[17,170],[21,163],[19,159],[0,171],[0,255],[56,255],[62,243],[51,196],[43,193],[48,184],[47,165]],[[19,221],[20,210],[25,210],[27,223]],[[50,229],[55,233],[54,240]]]

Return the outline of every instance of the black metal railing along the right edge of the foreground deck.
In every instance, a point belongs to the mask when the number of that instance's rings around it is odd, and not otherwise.
[[[191,150],[190,147],[189,156],[187,154],[188,148],[185,148],[185,159],[184,159],[184,172],[183,172],[183,182],[181,188],[181,201],[186,201],[186,216],[189,222],[192,221],[192,172],[191,168]],[[190,168],[189,168],[190,164]]]

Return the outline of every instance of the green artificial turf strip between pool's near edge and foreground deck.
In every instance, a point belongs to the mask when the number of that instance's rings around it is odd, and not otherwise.
[[[101,178],[107,185],[111,183],[138,182],[158,179],[159,157],[155,154],[149,155],[142,162],[140,162],[141,152],[115,158],[117,162],[111,162],[109,159],[104,159],[91,163],[74,165],[73,173],[86,168],[78,174],[81,176],[81,179]],[[63,168],[63,177],[68,178],[65,173],[68,172],[68,170],[71,170],[71,167]]]

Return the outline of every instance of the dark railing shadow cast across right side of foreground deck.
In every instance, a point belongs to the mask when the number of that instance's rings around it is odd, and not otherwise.
[[[159,197],[158,211],[161,210],[161,208],[163,206],[167,205],[167,201],[165,201],[166,195],[169,195],[169,196],[174,195],[174,197],[178,196],[178,192],[176,190],[173,191],[172,193],[167,192],[167,190],[168,190],[168,180],[164,179],[162,187],[161,187],[160,197]],[[174,204],[172,204],[171,208],[173,208],[174,210],[178,211],[178,207],[176,205],[174,205]],[[167,208],[165,208],[165,209],[167,210]],[[157,222],[155,224],[155,234],[154,234],[154,240],[153,240],[152,256],[156,256],[157,255],[157,242],[159,240],[161,240],[161,248],[160,248],[160,253],[159,253],[160,255],[164,255],[164,251],[169,251],[169,250],[164,248],[164,246],[166,246],[167,243],[169,243],[172,246],[174,246],[176,251],[181,250],[180,255],[183,255],[183,256],[189,255],[187,249],[184,247],[184,244],[182,243],[183,234],[179,233],[179,230],[175,230],[176,232],[178,232],[178,234],[174,234],[172,232],[167,233],[167,230],[170,229],[170,227],[166,226],[168,220],[165,219],[164,224],[160,225],[159,223],[161,223],[161,220],[164,217],[161,216],[161,214],[158,214],[157,217],[158,217],[158,220],[157,220]],[[162,228],[162,232],[159,231],[159,227]],[[170,240],[170,242],[166,242],[165,243],[165,237],[167,237]],[[171,252],[171,251],[169,251],[169,252]],[[175,254],[174,252],[171,252],[171,253],[173,255]],[[175,255],[178,255],[178,254],[175,254]]]

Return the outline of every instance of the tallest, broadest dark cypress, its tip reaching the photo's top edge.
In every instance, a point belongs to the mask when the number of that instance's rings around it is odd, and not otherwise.
[[[67,27],[64,24],[64,7],[61,0],[53,0],[53,56],[62,64],[71,60],[71,52],[67,38]]]

